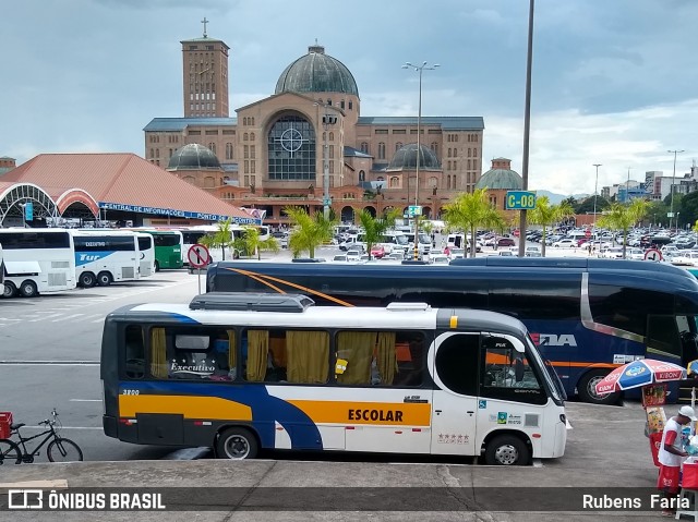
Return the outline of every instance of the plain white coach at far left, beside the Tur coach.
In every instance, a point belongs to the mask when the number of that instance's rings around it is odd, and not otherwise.
[[[75,248],[64,229],[0,229],[4,298],[75,288]]]

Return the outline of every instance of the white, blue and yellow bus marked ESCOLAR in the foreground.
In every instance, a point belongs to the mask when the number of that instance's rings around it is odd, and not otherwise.
[[[563,456],[562,390],[518,319],[423,303],[209,292],[105,320],[104,430],[143,445]]]

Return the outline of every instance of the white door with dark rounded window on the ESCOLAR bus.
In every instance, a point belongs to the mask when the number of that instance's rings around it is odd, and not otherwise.
[[[432,453],[476,454],[479,333],[438,336],[430,353]]]

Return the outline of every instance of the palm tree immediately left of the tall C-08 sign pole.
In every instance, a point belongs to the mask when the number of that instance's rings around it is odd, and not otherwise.
[[[444,207],[444,221],[450,230],[470,233],[470,257],[476,256],[476,230],[479,227],[500,230],[506,227],[504,217],[488,201],[486,189],[456,196]]]

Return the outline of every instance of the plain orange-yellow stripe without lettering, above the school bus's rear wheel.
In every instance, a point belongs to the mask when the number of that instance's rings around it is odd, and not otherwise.
[[[139,413],[179,413],[184,418],[252,421],[249,405],[219,397],[119,396],[119,416],[135,417]]]

